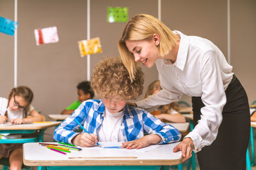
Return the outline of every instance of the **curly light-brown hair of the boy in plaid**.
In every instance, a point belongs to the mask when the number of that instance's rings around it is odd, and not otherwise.
[[[136,78],[131,82],[129,73],[120,57],[106,57],[93,69],[91,86],[100,98],[135,100],[143,91],[143,72],[136,71]]]

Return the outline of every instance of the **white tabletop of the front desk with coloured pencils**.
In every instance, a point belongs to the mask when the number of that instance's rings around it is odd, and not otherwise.
[[[83,148],[63,155],[38,143],[24,143],[23,160],[26,166],[170,166],[180,164],[182,159],[181,152],[173,153],[177,144],[161,145],[148,152]]]

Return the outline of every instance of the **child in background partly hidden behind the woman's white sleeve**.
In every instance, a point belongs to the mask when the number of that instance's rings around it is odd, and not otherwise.
[[[160,81],[153,81],[147,89],[144,99],[147,99],[148,96],[157,94],[161,90]],[[161,119],[164,122],[175,122],[175,123],[184,123],[186,118],[179,113],[179,106],[177,102],[166,104],[160,106],[157,110],[152,112],[152,114]]]

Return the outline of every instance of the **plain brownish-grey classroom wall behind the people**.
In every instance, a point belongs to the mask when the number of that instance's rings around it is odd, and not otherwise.
[[[102,57],[118,56],[117,41],[125,23],[106,22],[107,7],[128,7],[129,17],[138,13],[157,16],[157,0],[91,0],[91,38],[99,37],[102,53],[90,56],[90,74]],[[255,63],[254,0],[230,1],[231,64],[244,85],[250,103],[256,99],[252,76]],[[14,20],[14,1],[0,0],[0,16]],[[227,56],[227,1],[161,1],[161,20],[172,30],[202,36],[215,43]],[[49,114],[58,114],[76,100],[76,85],[87,80],[87,59],[81,58],[77,41],[87,35],[86,0],[18,1],[18,85],[31,87],[33,106]],[[34,29],[56,26],[58,43],[36,46]],[[14,83],[14,38],[0,33],[0,97],[7,97]],[[157,79],[156,67],[143,67],[144,92]],[[143,95],[139,98],[142,99]],[[182,100],[191,103],[188,96]],[[47,118],[49,120],[49,118]],[[45,135],[52,139],[53,129]]]

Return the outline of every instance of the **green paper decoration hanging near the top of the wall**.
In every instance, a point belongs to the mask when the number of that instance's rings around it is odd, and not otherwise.
[[[108,22],[127,22],[128,8],[108,7]]]

